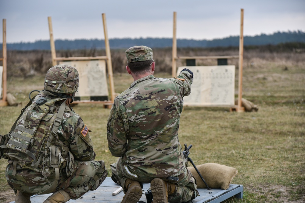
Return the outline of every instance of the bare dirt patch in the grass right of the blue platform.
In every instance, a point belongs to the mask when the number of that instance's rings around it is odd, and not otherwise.
[[[293,188],[293,190],[296,189]],[[283,185],[261,185],[259,188],[257,186],[249,186],[245,187],[245,190],[257,194],[257,196],[265,196],[266,202],[303,203],[305,200],[305,194],[298,196],[298,200],[293,200],[292,188]]]

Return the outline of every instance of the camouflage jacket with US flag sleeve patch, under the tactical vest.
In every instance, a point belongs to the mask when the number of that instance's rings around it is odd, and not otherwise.
[[[46,99],[50,98],[50,96],[45,95],[43,93],[39,93],[35,100],[33,101],[33,104],[35,104],[35,101],[40,98],[40,97],[45,97]],[[30,106],[31,107],[31,106]],[[28,107],[28,108],[30,108]],[[48,115],[46,115],[48,116]],[[47,121],[41,121],[38,127],[38,132],[44,133],[45,130],[50,130],[50,129],[45,129],[46,126],[43,125]],[[33,126],[33,128],[36,128]],[[73,110],[73,108],[69,105],[65,105],[65,110],[63,114],[63,118],[61,120],[61,125],[58,128],[57,131],[57,138],[54,138],[54,141],[52,143],[57,142],[56,140],[59,140],[59,144],[61,146],[61,158],[60,158],[60,163],[59,163],[59,168],[60,168],[60,174],[64,173],[66,174],[66,164],[69,164],[71,169],[71,172],[76,169],[77,166],[74,166],[73,162],[75,160],[81,160],[81,161],[89,161],[89,160],[94,160],[95,158],[95,152],[93,151],[93,144],[91,141],[91,138],[89,136],[89,132],[83,136],[81,133],[82,130],[85,128],[85,124],[81,117],[76,114]],[[38,133],[36,132],[36,133]],[[58,142],[57,142],[58,143]],[[44,143],[45,146],[46,142]],[[52,145],[52,144],[51,144]],[[70,158],[68,157],[68,153],[70,152],[71,155]],[[28,168],[30,170],[35,170],[36,172],[41,172],[42,174],[51,174],[53,171],[53,167],[49,165],[50,163],[50,155],[47,155],[44,160],[47,165],[41,167],[39,164],[38,168],[33,168],[31,164],[23,165],[21,164],[22,158],[18,157],[16,155],[18,152],[14,152],[14,150],[9,150],[5,155],[7,157],[16,157],[17,160],[20,160],[17,162],[17,164],[21,165],[19,166],[19,169],[22,168]],[[45,153],[44,147],[42,147],[42,151],[40,154]],[[39,154],[39,155],[40,155]],[[69,163],[70,162],[70,163]],[[9,163],[13,163],[13,160],[9,158]],[[44,170],[44,171],[41,171]]]

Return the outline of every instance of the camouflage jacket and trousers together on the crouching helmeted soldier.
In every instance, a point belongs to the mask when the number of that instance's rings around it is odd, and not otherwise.
[[[40,93],[33,104],[42,97],[50,99],[50,96]],[[49,130],[43,126],[39,125],[38,131]],[[33,126],[33,128],[36,127]],[[72,199],[76,199],[86,191],[96,189],[97,185],[106,178],[107,170],[103,161],[93,161],[95,152],[89,135],[90,131],[84,132],[84,129],[86,126],[81,117],[74,112],[72,107],[66,105],[55,139],[61,146],[60,180],[55,179],[56,172],[50,164],[50,154],[44,156],[38,168],[33,168],[30,164],[20,165],[18,161],[16,175],[12,175],[14,160],[9,159],[5,175],[15,193],[16,190],[19,190],[30,194],[47,194],[65,189]],[[43,147],[40,153],[45,153]]]

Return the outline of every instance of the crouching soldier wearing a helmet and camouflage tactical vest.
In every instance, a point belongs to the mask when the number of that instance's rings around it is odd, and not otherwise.
[[[44,203],[67,202],[97,189],[105,180],[104,161],[94,160],[91,130],[70,106],[78,82],[74,67],[51,67],[44,90],[12,127],[10,137],[23,145],[8,141],[3,157],[9,159],[5,174],[16,194],[16,203],[30,203],[31,195],[49,193],[53,194]],[[13,150],[12,146],[20,150]]]

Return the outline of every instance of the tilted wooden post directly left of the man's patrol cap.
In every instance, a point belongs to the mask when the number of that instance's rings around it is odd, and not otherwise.
[[[113,71],[112,71],[111,53],[110,53],[110,46],[109,46],[109,40],[108,40],[106,14],[105,13],[102,13],[102,19],[103,19],[104,34],[105,34],[105,49],[106,49],[106,56],[107,56],[107,69],[108,69],[108,75],[109,75],[111,101],[114,102],[115,93],[114,93]]]

